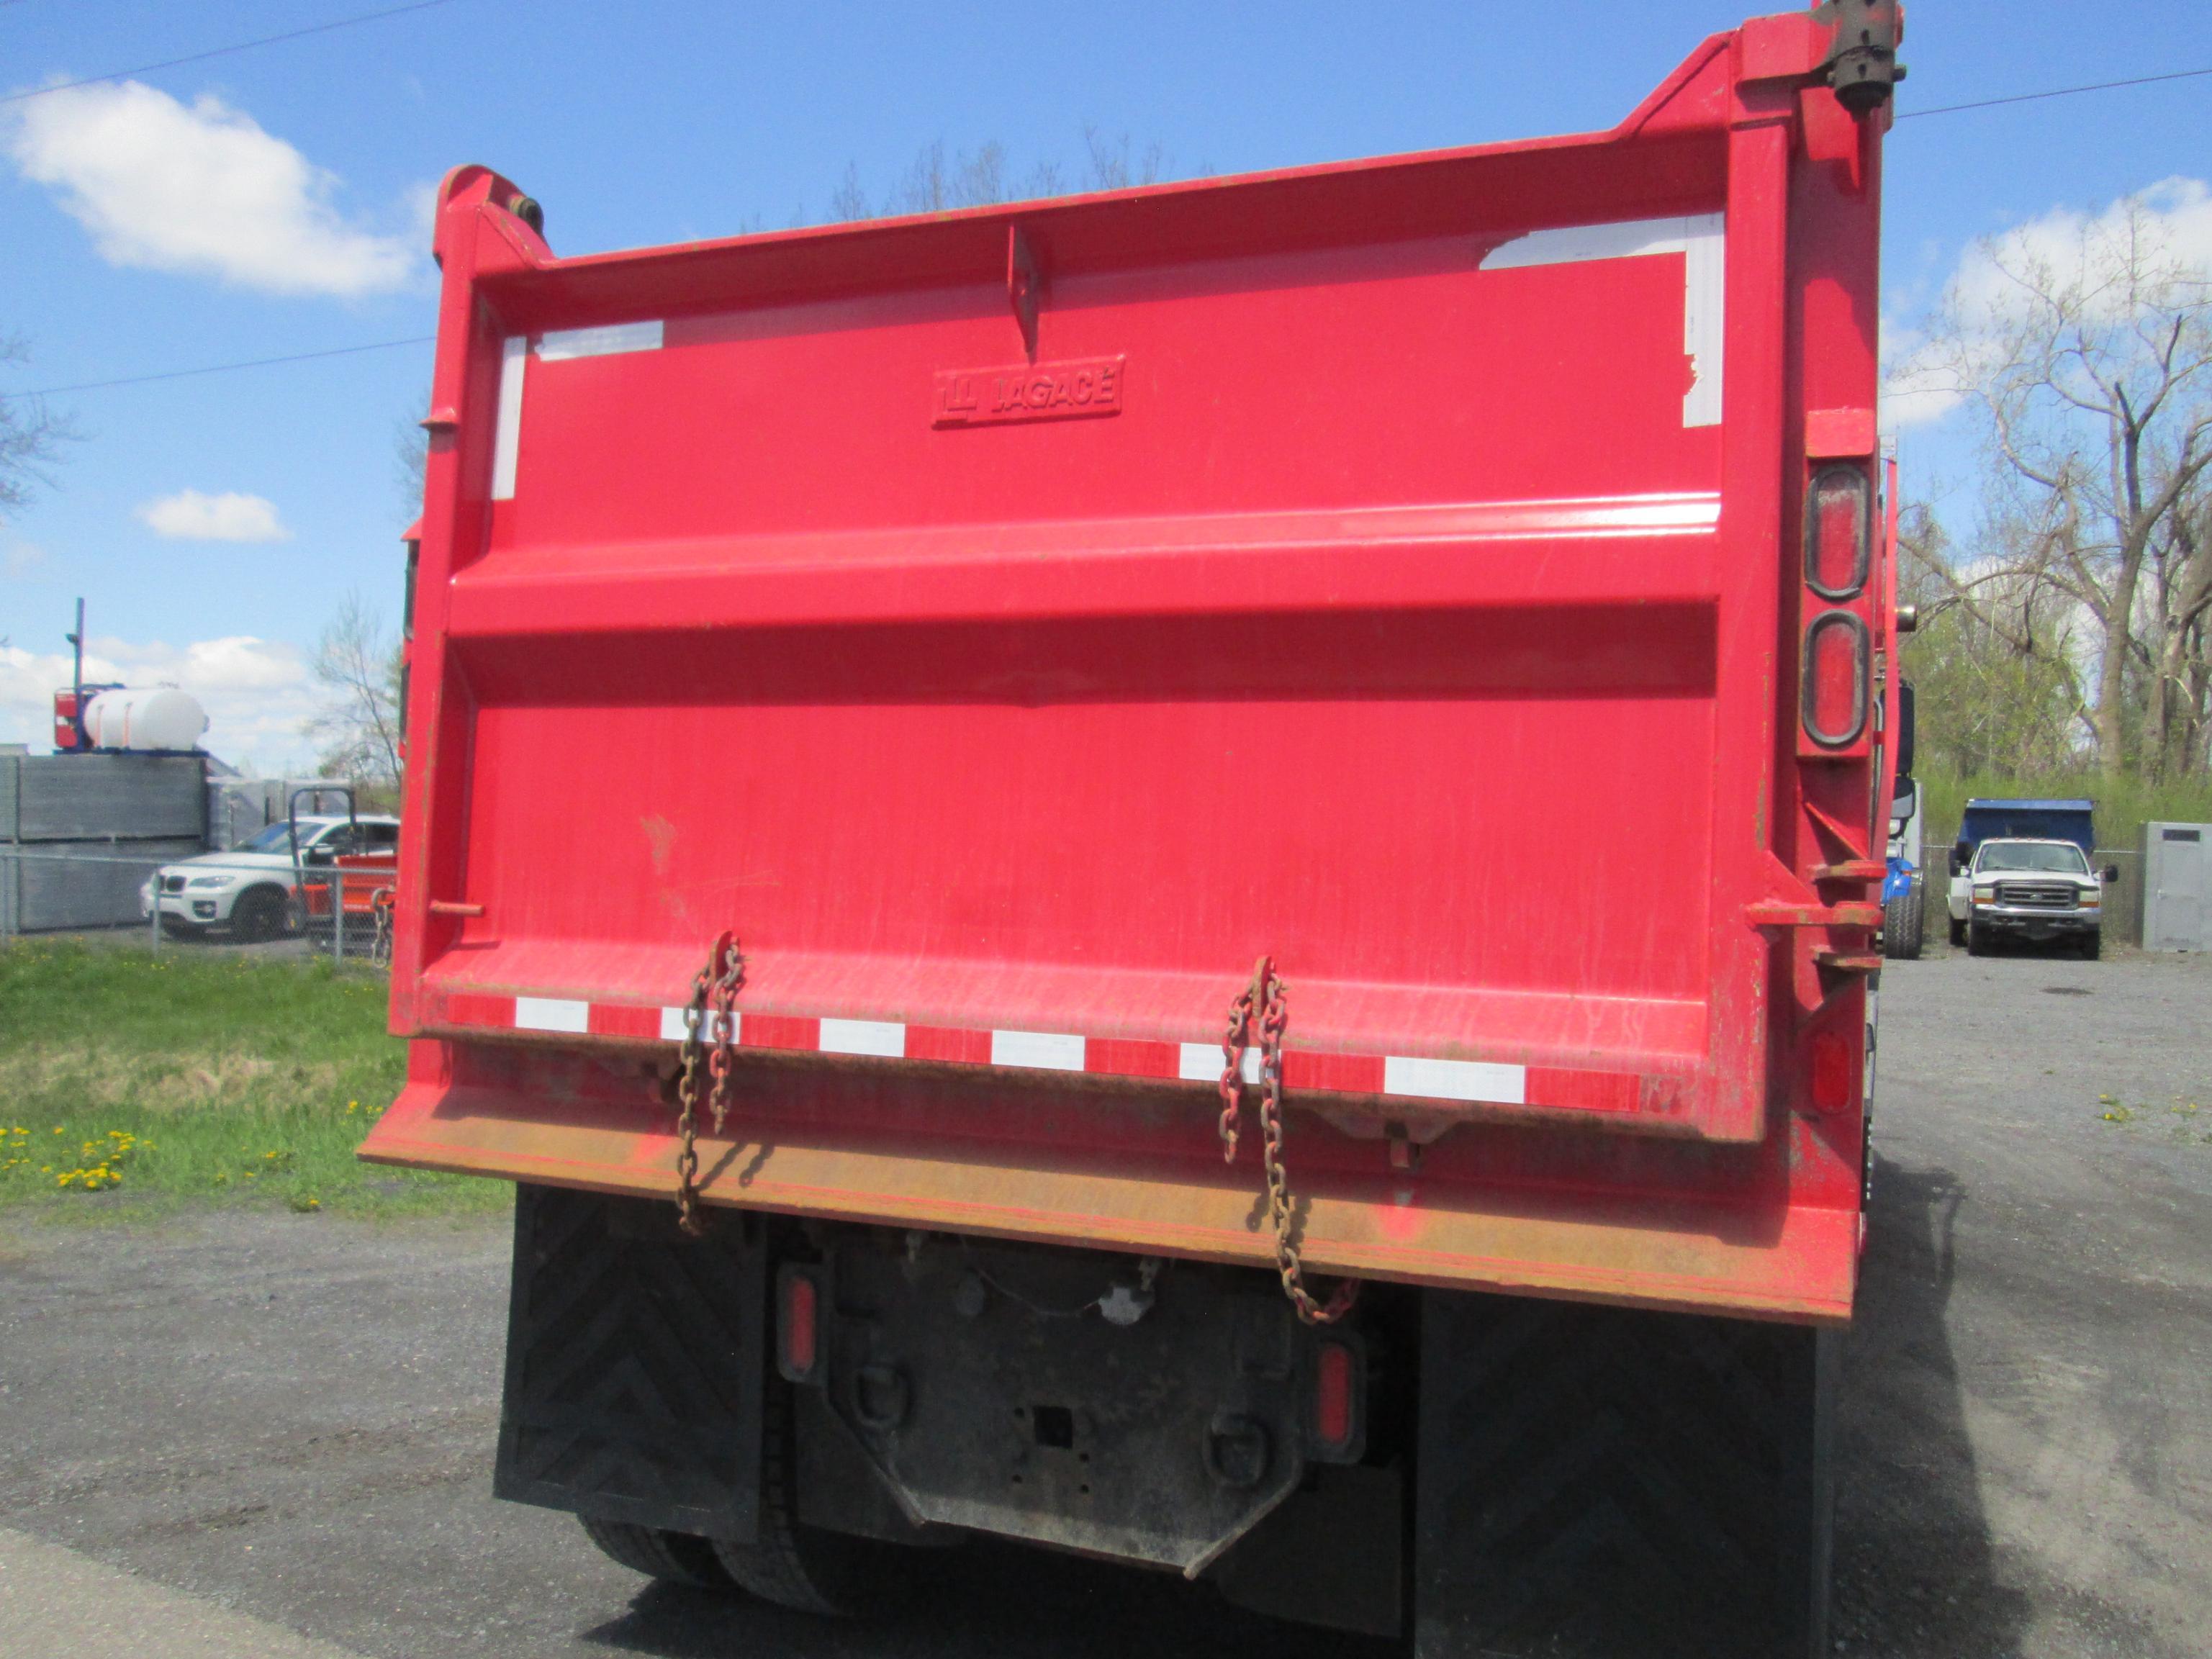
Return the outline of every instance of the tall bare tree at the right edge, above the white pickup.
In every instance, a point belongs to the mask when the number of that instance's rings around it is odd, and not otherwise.
[[[2008,568],[2093,624],[2084,706],[2106,776],[2139,734],[2168,759],[2212,604],[2188,526],[2212,465],[2212,281],[2148,195],[1982,243],[1922,354],[1982,418]]]

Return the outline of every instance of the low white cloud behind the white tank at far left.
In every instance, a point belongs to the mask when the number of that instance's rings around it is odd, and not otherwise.
[[[0,646],[0,741],[49,745],[53,692],[69,686],[69,668],[66,653]],[[314,684],[301,653],[283,641],[232,635],[168,646],[93,637],[84,677],[192,692],[208,710],[201,743],[228,761],[250,754],[265,770],[312,761],[301,723],[314,712]]]

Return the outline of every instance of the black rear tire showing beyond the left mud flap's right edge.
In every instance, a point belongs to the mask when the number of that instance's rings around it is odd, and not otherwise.
[[[714,1540],[714,1557],[739,1588],[794,1613],[849,1619],[909,1597],[925,1551],[852,1537],[799,1520],[792,1391],[768,1383],[761,1422],[761,1526],[750,1544]]]

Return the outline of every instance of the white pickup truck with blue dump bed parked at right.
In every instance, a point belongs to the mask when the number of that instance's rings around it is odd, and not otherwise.
[[[1980,956],[1997,938],[2104,949],[2095,801],[1969,801],[1951,847],[1951,942]]]

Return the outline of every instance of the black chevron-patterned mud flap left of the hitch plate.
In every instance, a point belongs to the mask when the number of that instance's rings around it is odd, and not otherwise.
[[[765,1241],[712,1212],[515,1188],[493,1491],[748,1542],[761,1506]]]

